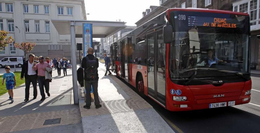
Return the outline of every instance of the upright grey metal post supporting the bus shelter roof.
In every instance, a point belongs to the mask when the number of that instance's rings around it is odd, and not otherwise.
[[[79,104],[78,85],[77,85],[77,60],[76,60],[76,43],[75,43],[75,21],[70,21],[70,44],[71,44],[71,61],[73,77],[73,96],[74,104]]]

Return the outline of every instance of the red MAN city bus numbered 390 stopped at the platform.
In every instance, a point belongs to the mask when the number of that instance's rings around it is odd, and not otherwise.
[[[117,77],[170,111],[250,102],[249,16],[168,9],[110,47]]]

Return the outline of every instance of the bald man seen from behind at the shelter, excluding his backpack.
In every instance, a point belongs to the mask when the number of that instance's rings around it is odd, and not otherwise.
[[[88,55],[86,57],[88,57],[89,60],[94,60],[95,56],[93,55],[93,53],[94,53],[94,50],[93,50],[93,48],[90,47],[88,49]],[[92,85],[93,91],[94,91],[95,106],[96,106],[96,108],[100,108],[101,104],[99,101],[99,93],[98,93],[99,74],[96,73],[94,80],[88,78],[87,73],[86,73],[86,69],[88,69],[86,57],[84,57],[81,62],[81,67],[84,68],[85,89],[87,90],[87,93],[86,93],[87,101],[86,101],[86,105],[84,106],[84,108],[90,109],[90,106],[91,106],[91,95],[90,95],[91,85]],[[98,67],[99,67],[99,59],[96,58],[96,68],[98,68]]]

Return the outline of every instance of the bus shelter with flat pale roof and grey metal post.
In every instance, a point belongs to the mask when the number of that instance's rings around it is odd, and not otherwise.
[[[73,76],[74,104],[79,104],[79,88],[77,83],[76,38],[83,37],[83,23],[92,24],[92,38],[105,38],[124,29],[125,22],[87,21],[87,20],[51,20],[60,35],[70,35],[71,63]],[[92,39],[91,38],[91,39]]]

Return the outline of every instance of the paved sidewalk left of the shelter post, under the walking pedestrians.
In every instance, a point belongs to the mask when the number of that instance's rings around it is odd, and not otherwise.
[[[41,95],[33,100],[33,87],[30,87],[29,101],[25,99],[25,85],[14,89],[14,102],[8,100],[8,93],[0,97],[0,132],[18,133],[82,133],[81,116],[78,105],[73,102],[72,69],[67,76],[57,77],[53,69],[50,94],[40,101]],[[63,75],[63,74],[62,74]],[[54,119],[49,120],[48,119]],[[56,120],[55,120],[56,119]],[[44,125],[45,122],[45,125]],[[57,122],[57,124],[52,124]],[[51,124],[51,125],[46,125]]]

